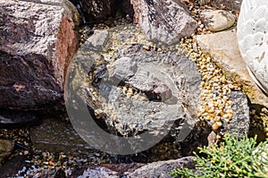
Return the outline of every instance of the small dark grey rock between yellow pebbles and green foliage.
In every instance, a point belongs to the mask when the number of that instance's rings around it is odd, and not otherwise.
[[[223,122],[220,132],[234,134],[237,138],[242,139],[245,133],[249,131],[249,107],[247,106],[247,96],[239,91],[232,91],[228,94],[229,100],[233,102],[231,107],[233,116],[229,123]]]

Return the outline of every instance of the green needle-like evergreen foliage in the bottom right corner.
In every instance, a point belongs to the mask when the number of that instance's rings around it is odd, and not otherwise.
[[[268,140],[257,144],[256,137],[238,140],[226,135],[221,146],[199,148],[196,170],[172,170],[172,177],[268,177]],[[200,155],[199,154],[199,155]]]

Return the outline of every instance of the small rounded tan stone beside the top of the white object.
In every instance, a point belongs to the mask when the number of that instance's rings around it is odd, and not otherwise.
[[[234,14],[223,10],[205,10],[200,13],[205,27],[211,31],[221,31],[229,29],[236,17]]]

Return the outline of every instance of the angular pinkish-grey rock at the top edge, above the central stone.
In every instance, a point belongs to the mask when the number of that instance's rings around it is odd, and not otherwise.
[[[180,1],[131,0],[131,4],[135,21],[149,40],[172,44],[197,29],[197,21]]]

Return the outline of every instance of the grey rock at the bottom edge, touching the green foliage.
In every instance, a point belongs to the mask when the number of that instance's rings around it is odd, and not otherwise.
[[[144,165],[133,173],[125,173],[125,176],[128,178],[147,178],[147,177],[163,177],[170,178],[171,176],[168,174],[175,167],[177,168],[188,168],[194,169],[195,162],[194,157],[182,157],[180,159],[168,160],[168,161],[159,161],[155,163],[150,163],[148,165]]]

